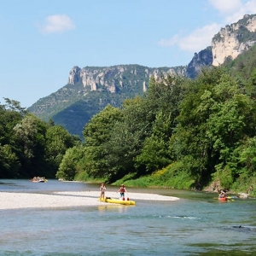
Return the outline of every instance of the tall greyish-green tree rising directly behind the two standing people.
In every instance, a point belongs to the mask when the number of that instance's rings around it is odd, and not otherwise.
[[[141,153],[144,139],[151,134],[148,108],[142,97],[125,100],[122,116],[113,126],[111,137],[105,144],[108,148],[109,180],[136,172],[135,159]]]

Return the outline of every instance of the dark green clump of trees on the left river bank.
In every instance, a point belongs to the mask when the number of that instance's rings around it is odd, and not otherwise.
[[[0,177],[55,177],[67,148],[79,138],[27,113],[19,102],[5,101],[0,106]]]

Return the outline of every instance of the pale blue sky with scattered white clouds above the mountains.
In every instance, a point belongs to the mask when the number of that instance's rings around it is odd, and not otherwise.
[[[73,66],[176,67],[256,0],[0,0],[0,102],[28,108]]]

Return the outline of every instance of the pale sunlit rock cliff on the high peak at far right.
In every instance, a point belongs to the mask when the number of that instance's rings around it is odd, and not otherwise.
[[[236,59],[253,44],[256,44],[256,15],[245,15],[212,38],[212,66],[223,64],[227,58]]]

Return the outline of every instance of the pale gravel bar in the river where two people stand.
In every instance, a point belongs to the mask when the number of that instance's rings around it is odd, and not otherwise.
[[[100,206],[107,204],[98,200],[98,191],[62,191],[52,194],[0,192],[0,210],[21,208],[56,208]],[[108,197],[118,198],[119,193],[108,192]],[[177,197],[129,193],[130,200],[177,201]]]

